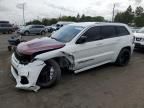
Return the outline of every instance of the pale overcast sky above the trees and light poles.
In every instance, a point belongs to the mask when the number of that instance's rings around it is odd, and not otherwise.
[[[111,19],[113,4],[116,11],[125,10],[128,5],[144,6],[143,0],[0,0],[0,20],[22,23],[22,10],[17,4],[25,2],[25,19],[53,18],[60,15],[76,16],[77,13],[90,16],[104,16]]]

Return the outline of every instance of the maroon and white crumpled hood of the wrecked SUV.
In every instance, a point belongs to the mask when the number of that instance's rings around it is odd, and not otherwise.
[[[64,46],[64,43],[45,37],[36,38],[28,42],[22,42],[17,46],[17,50],[22,54],[32,55],[39,51],[53,50]]]

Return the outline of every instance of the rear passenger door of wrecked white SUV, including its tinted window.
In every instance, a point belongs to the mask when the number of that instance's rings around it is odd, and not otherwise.
[[[117,49],[117,45],[121,41],[121,38],[117,35],[116,26],[101,26],[100,34],[103,37],[103,61],[112,61]]]

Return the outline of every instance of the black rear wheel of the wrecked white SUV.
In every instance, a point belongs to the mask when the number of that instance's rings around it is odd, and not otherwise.
[[[124,48],[120,51],[115,64],[118,66],[126,66],[129,63],[130,57],[131,57],[130,50]]]

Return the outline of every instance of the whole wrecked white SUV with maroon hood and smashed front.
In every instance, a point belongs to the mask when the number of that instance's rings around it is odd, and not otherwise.
[[[37,91],[55,84],[62,69],[78,73],[106,63],[127,65],[133,41],[133,34],[125,24],[70,24],[50,38],[19,44],[12,54],[11,72],[17,88]]]

